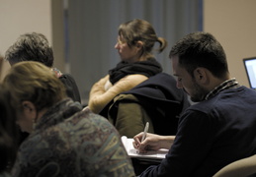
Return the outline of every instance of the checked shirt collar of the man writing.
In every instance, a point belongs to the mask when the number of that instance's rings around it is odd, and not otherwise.
[[[215,87],[213,90],[211,90],[205,97],[205,100],[209,100],[211,97],[213,97],[215,94],[220,92],[224,89],[236,89],[239,88],[240,85],[235,80],[235,78],[232,78],[230,80],[226,80],[223,83],[221,83],[219,86]]]

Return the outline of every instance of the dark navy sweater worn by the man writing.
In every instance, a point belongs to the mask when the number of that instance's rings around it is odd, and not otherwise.
[[[256,153],[256,92],[224,89],[189,107],[174,144],[158,166],[141,177],[212,177],[223,166]]]

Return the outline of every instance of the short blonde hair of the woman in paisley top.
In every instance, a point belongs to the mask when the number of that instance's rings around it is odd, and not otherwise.
[[[54,73],[34,61],[15,64],[4,78],[3,85],[11,93],[11,104],[19,110],[24,100],[33,102],[40,111],[66,96],[63,84]]]

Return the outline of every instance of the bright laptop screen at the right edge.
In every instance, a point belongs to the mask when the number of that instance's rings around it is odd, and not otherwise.
[[[256,89],[256,57],[243,59],[250,88]]]

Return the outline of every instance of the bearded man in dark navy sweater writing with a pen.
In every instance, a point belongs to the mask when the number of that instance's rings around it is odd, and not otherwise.
[[[225,165],[256,152],[256,91],[229,76],[224,50],[208,32],[193,32],[170,51],[177,88],[197,104],[187,108],[174,136],[143,133],[133,146],[139,152],[170,148],[159,165],[140,177],[213,176]]]

